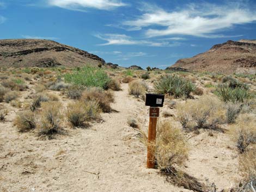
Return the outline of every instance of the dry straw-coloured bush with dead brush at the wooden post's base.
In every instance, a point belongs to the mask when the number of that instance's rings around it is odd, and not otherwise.
[[[196,178],[178,170],[188,157],[188,143],[185,134],[169,121],[160,122],[157,126],[156,143],[148,143],[147,135],[141,131],[143,143],[155,151],[155,159],[160,174],[166,181],[194,191],[204,191],[204,185]]]

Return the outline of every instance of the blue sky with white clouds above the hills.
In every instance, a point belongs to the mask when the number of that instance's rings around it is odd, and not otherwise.
[[[21,38],[164,69],[227,40],[256,39],[256,1],[0,0],[0,39]]]

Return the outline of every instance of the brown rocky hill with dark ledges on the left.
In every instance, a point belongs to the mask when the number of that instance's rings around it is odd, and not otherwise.
[[[97,55],[50,40],[0,40],[0,67],[50,67],[105,64]]]

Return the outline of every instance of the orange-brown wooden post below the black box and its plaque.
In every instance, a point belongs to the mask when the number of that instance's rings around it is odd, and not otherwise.
[[[156,142],[156,123],[157,117],[149,117],[148,143],[153,145]],[[155,168],[155,148],[152,145],[148,146],[147,168]]]

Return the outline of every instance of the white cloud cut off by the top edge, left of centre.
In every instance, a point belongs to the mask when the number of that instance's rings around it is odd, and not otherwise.
[[[48,0],[48,4],[78,11],[84,11],[84,8],[111,10],[127,5],[117,0]]]

